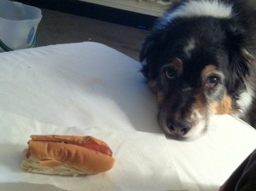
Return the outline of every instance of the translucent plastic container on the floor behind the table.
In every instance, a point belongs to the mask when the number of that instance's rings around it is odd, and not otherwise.
[[[38,8],[0,0],[0,48],[9,51],[34,47],[41,19]]]

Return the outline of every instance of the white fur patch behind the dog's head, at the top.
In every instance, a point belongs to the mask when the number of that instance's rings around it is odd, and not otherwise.
[[[232,5],[221,3],[219,1],[189,1],[177,7],[171,14],[166,14],[167,22],[177,17],[191,16],[212,16],[215,18],[230,18],[232,14]]]

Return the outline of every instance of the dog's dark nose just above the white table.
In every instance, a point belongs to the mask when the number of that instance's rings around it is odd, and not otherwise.
[[[183,123],[183,121],[179,122],[173,119],[167,119],[166,125],[173,136],[185,136],[191,129],[189,125]]]

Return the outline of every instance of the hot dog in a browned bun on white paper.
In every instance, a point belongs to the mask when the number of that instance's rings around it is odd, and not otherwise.
[[[90,175],[113,167],[106,142],[92,136],[31,136],[21,167],[28,172],[63,176]]]

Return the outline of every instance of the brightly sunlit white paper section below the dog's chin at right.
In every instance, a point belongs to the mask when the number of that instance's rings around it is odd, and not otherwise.
[[[193,142],[171,139],[167,142],[184,188],[189,191],[218,191],[256,148],[255,137],[256,130],[241,119],[215,115],[210,120],[206,135]]]

